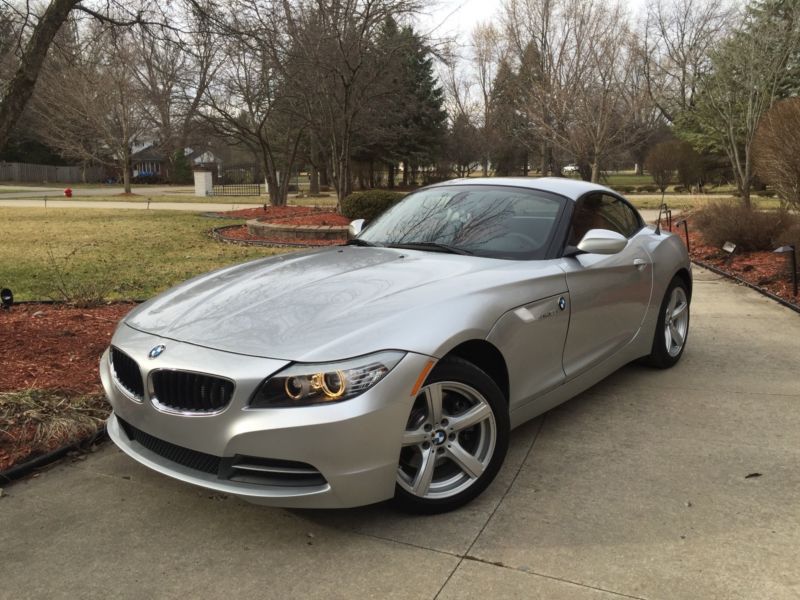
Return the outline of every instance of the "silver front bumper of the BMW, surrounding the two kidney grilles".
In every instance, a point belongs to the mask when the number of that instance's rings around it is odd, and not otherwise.
[[[163,356],[149,359],[158,344]],[[386,500],[394,495],[401,439],[414,398],[412,388],[430,357],[409,353],[366,393],[344,402],[300,408],[248,409],[258,384],[283,368],[285,361],[234,355],[164,340],[120,326],[112,345],[139,365],[147,382],[158,369],[184,369],[232,379],[233,398],[213,414],[165,412],[151,401],[145,385],[141,401],[125,393],[112,375],[108,351],[100,360],[100,376],[113,407],[108,433],[126,454],[143,465],[180,481],[240,497],[249,502],[297,508],[345,508]],[[127,425],[123,425],[123,421]],[[163,441],[146,447],[129,435]],[[251,483],[226,479],[172,460],[163,446],[211,455],[230,464],[237,457],[305,463],[321,477],[295,485]],[[173,448],[174,451],[174,448]]]

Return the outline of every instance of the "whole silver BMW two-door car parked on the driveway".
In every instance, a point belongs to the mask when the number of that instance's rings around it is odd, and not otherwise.
[[[517,425],[683,353],[686,249],[605,187],[448,181],[362,225],[127,315],[100,363],[114,442],[251,502],[440,512],[491,483]]]

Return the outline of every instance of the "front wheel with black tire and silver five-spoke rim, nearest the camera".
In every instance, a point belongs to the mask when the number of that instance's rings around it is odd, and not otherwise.
[[[437,395],[440,419],[434,421],[431,397]],[[468,418],[468,414],[474,416]],[[481,420],[470,425],[478,418]],[[395,504],[407,512],[434,514],[468,503],[500,470],[508,451],[509,430],[508,404],[494,380],[466,360],[443,359],[420,389],[406,424],[406,435],[416,437],[411,443],[404,437]],[[420,437],[425,435],[428,437]],[[429,459],[433,462],[428,483],[415,486],[426,479],[423,471]],[[413,489],[424,489],[425,494]]]

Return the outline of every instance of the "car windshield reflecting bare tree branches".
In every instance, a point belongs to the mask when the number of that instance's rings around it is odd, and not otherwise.
[[[489,258],[542,259],[562,205],[559,196],[524,188],[428,188],[383,213],[358,240]]]

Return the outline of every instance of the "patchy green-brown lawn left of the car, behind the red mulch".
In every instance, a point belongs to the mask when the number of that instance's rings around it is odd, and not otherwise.
[[[208,236],[232,223],[176,211],[0,208],[0,287],[18,300],[142,299],[211,269],[286,251]]]

